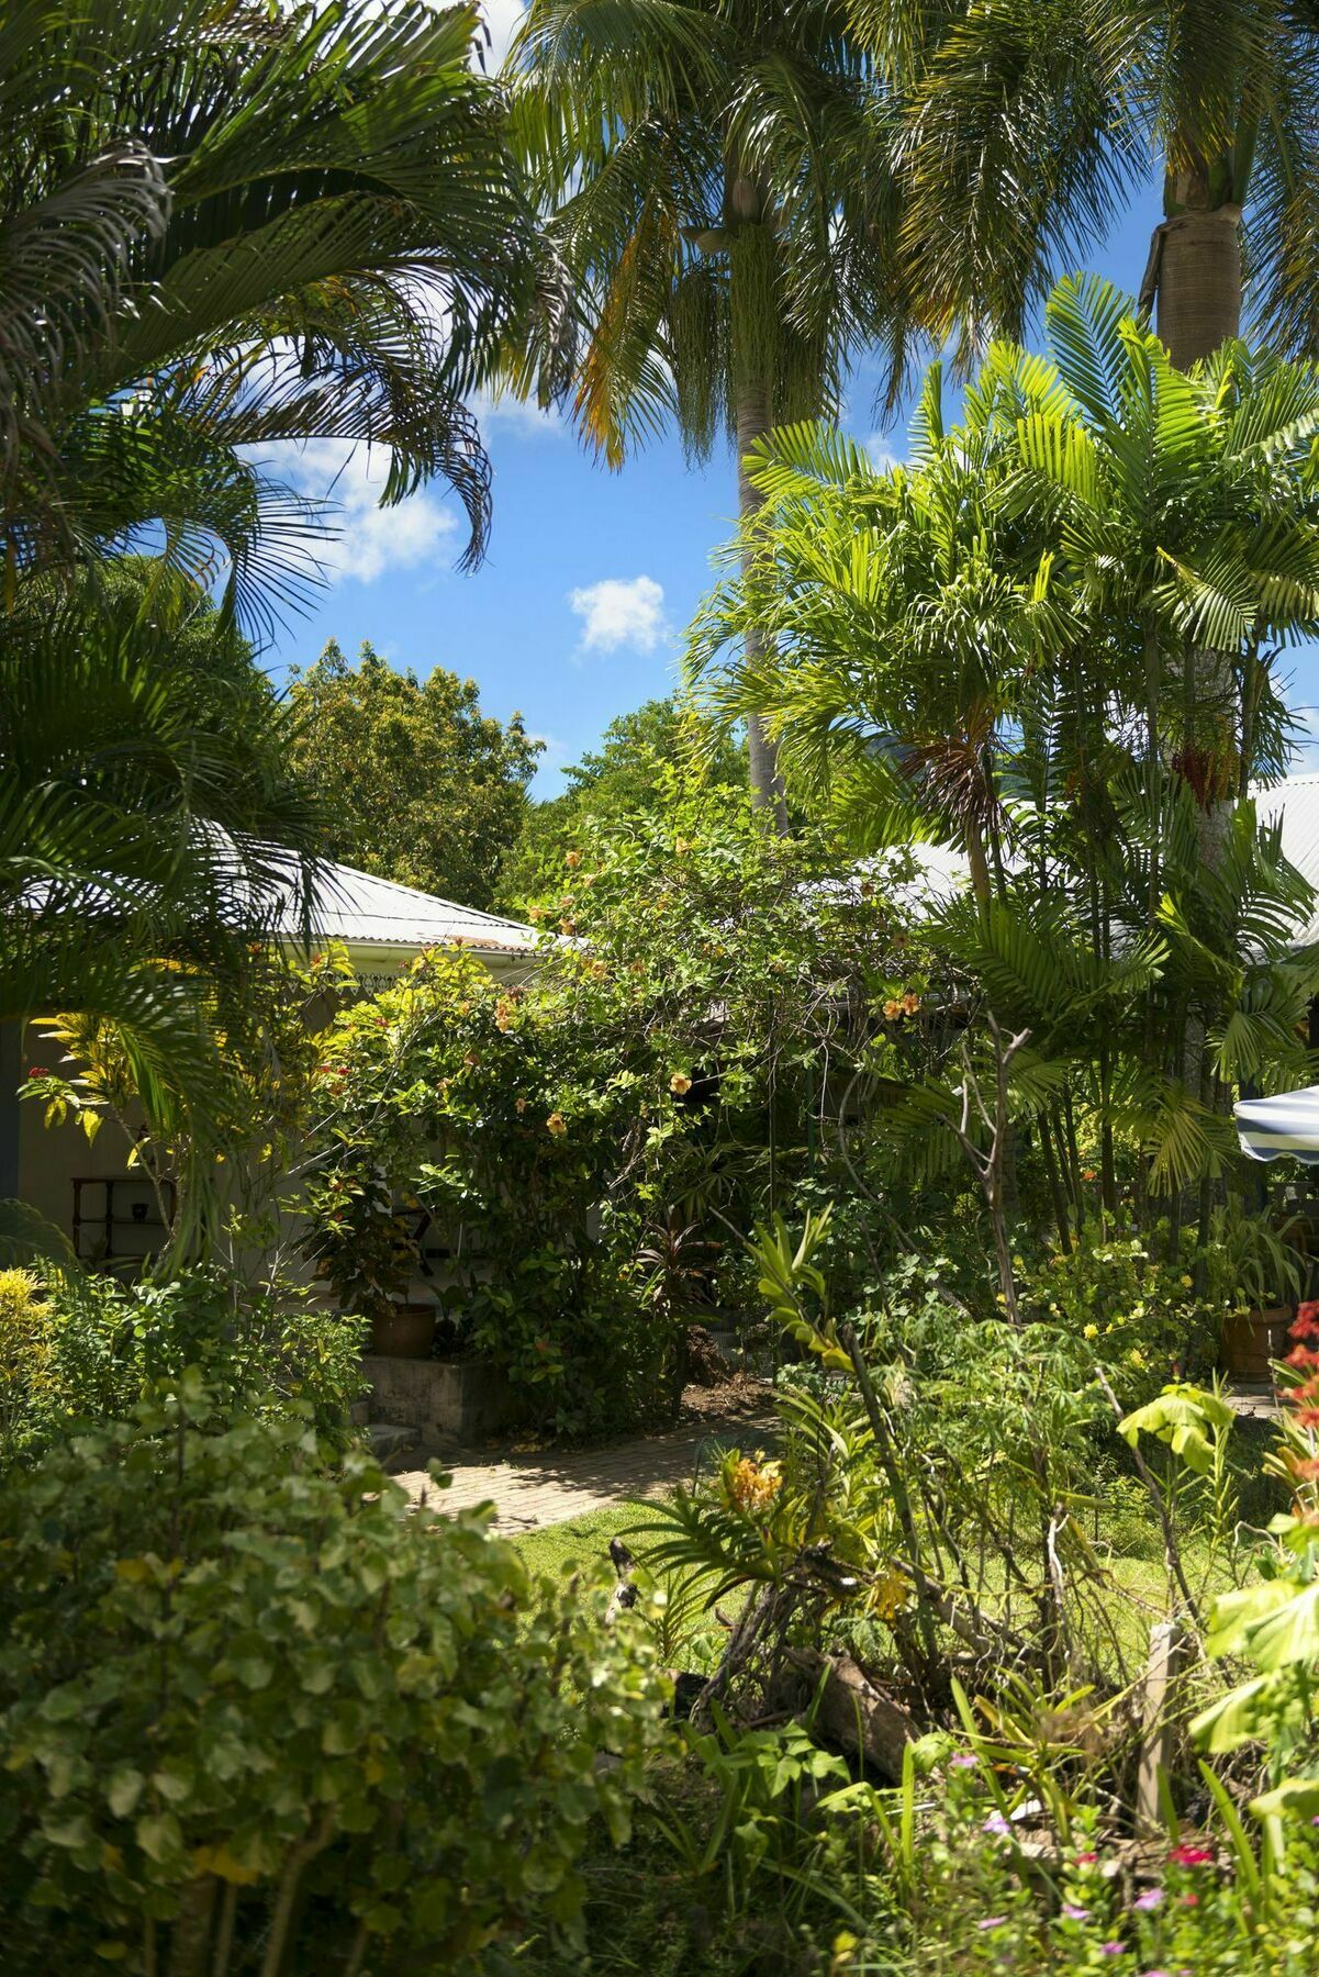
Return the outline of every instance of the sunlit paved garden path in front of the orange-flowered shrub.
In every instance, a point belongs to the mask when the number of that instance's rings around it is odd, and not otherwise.
[[[738,1382],[702,1396],[688,1388],[678,1425],[662,1435],[633,1435],[591,1449],[512,1445],[486,1461],[473,1461],[473,1451],[421,1445],[392,1467],[396,1481],[417,1503],[427,1501],[439,1510],[492,1503],[500,1534],[516,1536],[627,1503],[629,1497],[659,1497],[708,1473],[720,1451],[734,1443],[763,1447],[771,1431],[767,1390]],[[437,1491],[431,1483],[425,1469],[431,1459],[453,1477],[449,1489]]]

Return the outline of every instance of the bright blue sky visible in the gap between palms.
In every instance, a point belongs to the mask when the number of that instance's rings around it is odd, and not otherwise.
[[[1080,265],[1135,291],[1159,217],[1151,180]],[[874,386],[872,370],[852,378],[848,431],[902,455],[906,419],[878,431]],[[299,484],[314,494],[334,484],[340,504],[340,538],[326,552],[336,571],[312,609],[279,633],[267,664],[283,672],[312,660],[326,639],[346,652],[370,639],[396,666],[471,676],[486,712],[506,720],[518,710],[544,739],[534,793],[552,797],[562,769],[615,714],[672,688],[682,629],[732,532],[734,461],[724,453],[692,471],[676,441],[664,441],[613,474],[560,419],[530,407],[484,407],[481,425],[494,465],[494,530],[473,575],[453,567],[465,536],[441,486],[378,510],[362,455],[346,467],[342,449],[303,455]],[[1295,700],[1319,702],[1319,656],[1303,654],[1293,670]]]

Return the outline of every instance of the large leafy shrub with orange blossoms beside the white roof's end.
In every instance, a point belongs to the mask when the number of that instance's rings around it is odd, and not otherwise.
[[[429,1218],[463,1340],[581,1431],[672,1402],[686,1323],[738,1281],[726,1224],[819,1155],[821,1066],[850,1062],[898,923],[755,822],[570,856],[530,983],[435,951],[326,1032],[310,1247],[374,1315]]]

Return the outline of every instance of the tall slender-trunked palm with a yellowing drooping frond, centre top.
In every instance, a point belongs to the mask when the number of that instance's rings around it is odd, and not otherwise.
[[[532,0],[508,67],[581,295],[583,435],[611,467],[668,421],[694,459],[726,435],[751,514],[747,453],[835,411],[852,352],[896,316],[884,105],[846,8]],[[747,730],[753,797],[781,807],[753,710]]]

